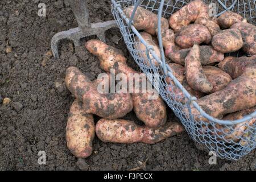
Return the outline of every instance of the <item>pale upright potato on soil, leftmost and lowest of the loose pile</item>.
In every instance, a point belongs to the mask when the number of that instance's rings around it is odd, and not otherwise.
[[[66,126],[66,140],[69,151],[77,158],[88,158],[93,151],[95,126],[93,115],[86,113],[82,103],[75,100],[70,108]]]

